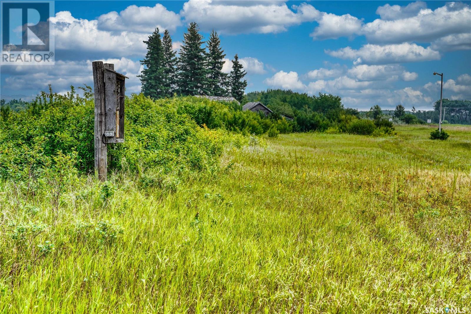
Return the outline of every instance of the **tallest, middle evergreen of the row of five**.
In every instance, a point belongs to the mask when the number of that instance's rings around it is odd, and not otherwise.
[[[208,95],[206,53],[201,47],[203,36],[198,33],[198,25],[193,22],[183,34],[178,63],[178,92],[181,95]]]

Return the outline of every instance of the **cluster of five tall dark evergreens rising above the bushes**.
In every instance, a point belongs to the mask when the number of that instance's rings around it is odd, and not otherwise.
[[[179,56],[173,50],[168,30],[161,37],[155,28],[148,40],[147,53],[141,64],[145,66],[139,76],[144,95],[153,99],[182,96],[232,96],[239,102],[244,97],[247,81],[246,72],[237,54],[232,60],[232,71],[222,72],[224,50],[221,49],[218,34],[213,30],[208,41],[203,41],[198,25],[190,23],[183,34],[183,45]],[[206,47],[204,47],[206,43]]]

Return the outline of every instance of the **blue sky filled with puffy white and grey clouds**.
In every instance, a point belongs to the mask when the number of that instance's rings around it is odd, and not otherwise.
[[[223,71],[238,54],[246,92],[285,89],[339,95],[345,107],[431,109],[471,99],[471,2],[445,1],[55,1],[54,66],[1,66],[7,101],[39,91],[93,87],[91,62],[114,63],[140,92],[143,43],[168,29],[175,50],[196,22],[218,32]]]

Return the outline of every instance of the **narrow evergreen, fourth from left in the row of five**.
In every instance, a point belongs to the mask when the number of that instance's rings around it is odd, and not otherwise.
[[[208,56],[207,56],[207,68],[208,74],[208,93],[211,96],[225,96],[227,95],[227,74],[222,72],[222,66],[224,66],[224,50],[220,47],[221,41],[219,40],[218,33],[211,32],[211,36],[208,41]]]

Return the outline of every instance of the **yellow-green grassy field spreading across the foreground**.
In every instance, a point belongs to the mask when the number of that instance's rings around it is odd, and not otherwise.
[[[176,190],[82,179],[57,219],[1,182],[0,313],[469,312],[471,127],[446,129],[252,139]]]

